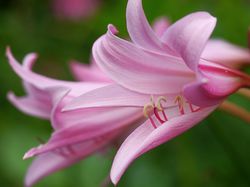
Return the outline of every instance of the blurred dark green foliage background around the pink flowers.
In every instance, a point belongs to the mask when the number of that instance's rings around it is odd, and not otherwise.
[[[6,100],[13,90],[23,94],[21,81],[5,58],[10,45],[21,61],[28,52],[39,53],[35,71],[60,79],[73,80],[68,62],[88,63],[92,43],[115,24],[122,37],[126,0],[103,0],[94,16],[80,22],[58,20],[49,0],[0,1],[0,186],[21,187],[31,160],[22,156],[47,139],[49,122],[26,116]],[[184,15],[205,10],[218,18],[214,37],[246,47],[250,26],[249,0],[144,0],[152,22],[166,15],[175,21]],[[234,95],[231,100],[250,110],[250,101]],[[127,170],[121,187],[223,187],[250,186],[250,124],[216,111],[192,130],[145,154]],[[40,187],[97,187],[108,175],[114,151],[97,155],[47,177]],[[112,186],[112,185],[111,185]]]

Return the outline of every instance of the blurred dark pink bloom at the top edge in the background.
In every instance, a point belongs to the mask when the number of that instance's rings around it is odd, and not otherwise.
[[[68,20],[80,20],[91,16],[100,0],[53,0],[55,15]]]

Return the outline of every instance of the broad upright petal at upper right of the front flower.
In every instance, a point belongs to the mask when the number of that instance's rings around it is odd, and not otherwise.
[[[172,24],[162,37],[162,41],[184,59],[187,66],[197,71],[201,54],[207,44],[216,18],[206,12],[196,12]]]

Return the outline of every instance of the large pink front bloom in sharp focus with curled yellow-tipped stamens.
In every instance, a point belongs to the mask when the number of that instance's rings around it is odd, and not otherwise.
[[[250,77],[233,65],[239,63],[237,59],[242,54],[242,59],[249,62],[247,51],[239,48],[235,51],[234,47],[228,48],[234,53],[225,48],[226,52],[210,51],[208,39],[215,24],[216,18],[197,12],[159,35],[147,22],[141,0],[129,0],[127,28],[132,41],[118,38],[116,28],[109,25],[108,32],[94,44],[94,59],[118,85],[83,94],[64,110],[106,106],[140,108],[147,118],[119,149],[111,170],[114,184],[134,159],[193,127],[227,96],[250,86]],[[225,46],[224,42],[210,45],[215,44]],[[218,54],[240,55],[232,60],[216,57]],[[229,61],[228,67],[223,65]]]

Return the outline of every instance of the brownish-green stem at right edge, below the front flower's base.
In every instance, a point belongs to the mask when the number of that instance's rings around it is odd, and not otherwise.
[[[247,123],[250,123],[250,112],[248,112],[246,109],[230,102],[230,101],[225,101],[223,102],[219,109],[224,110],[228,112],[229,114],[232,114],[242,120],[244,120]]]

